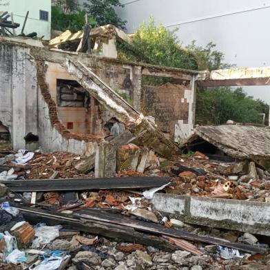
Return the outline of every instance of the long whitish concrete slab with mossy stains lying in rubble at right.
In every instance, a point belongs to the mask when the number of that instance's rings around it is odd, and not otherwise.
[[[243,200],[155,194],[154,208],[190,224],[270,236],[270,204]]]

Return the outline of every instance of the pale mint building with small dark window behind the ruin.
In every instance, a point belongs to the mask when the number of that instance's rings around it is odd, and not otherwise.
[[[14,22],[20,23],[15,29],[16,34],[21,33],[26,12],[29,11],[25,25],[25,34],[37,32],[38,37],[50,39],[51,30],[51,0],[0,0],[0,11],[13,13]]]

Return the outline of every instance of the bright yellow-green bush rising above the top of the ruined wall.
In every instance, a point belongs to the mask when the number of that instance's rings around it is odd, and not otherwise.
[[[153,18],[148,25],[141,25],[132,40],[132,44],[118,43],[119,58],[168,67],[198,69],[192,52],[180,45],[176,30],[167,30],[161,24],[156,26]]]

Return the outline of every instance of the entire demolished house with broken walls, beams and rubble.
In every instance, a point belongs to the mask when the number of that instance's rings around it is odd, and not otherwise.
[[[270,69],[120,61],[125,33],[87,31],[0,37],[0,269],[268,269],[270,131],[194,118],[196,85]]]

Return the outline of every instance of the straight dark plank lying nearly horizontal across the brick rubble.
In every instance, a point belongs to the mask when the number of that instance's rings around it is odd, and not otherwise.
[[[2,181],[9,189],[24,191],[87,191],[93,189],[149,189],[170,183],[169,177],[143,176],[53,180]]]

